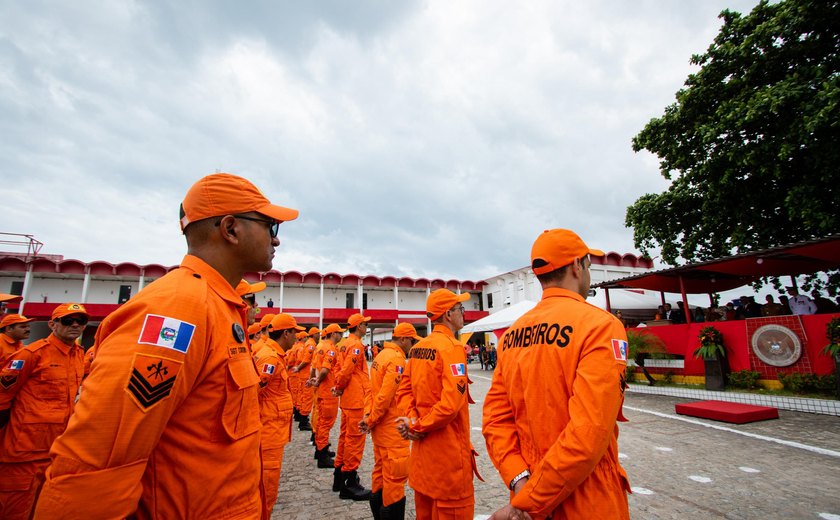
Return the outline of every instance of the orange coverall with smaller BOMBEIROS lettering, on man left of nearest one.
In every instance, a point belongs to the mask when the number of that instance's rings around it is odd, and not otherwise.
[[[411,431],[426,434],[412,443],[408,464],[418,518],[474,516],[466,361],[452,331],[435,325],[409,351],[397,389],[397,405],[417,421]]]

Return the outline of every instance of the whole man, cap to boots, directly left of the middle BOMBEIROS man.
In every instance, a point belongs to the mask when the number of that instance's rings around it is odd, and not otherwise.
[[[374,518],[405,518],[405,483],[408,480],[409,441],[394,428],[402,414],[394,398],[400,384],[408,351],[420,336],[411,323],[394,328],[370,367],[371,400],[360,429],[373,439],[373,474],[370,509]]]

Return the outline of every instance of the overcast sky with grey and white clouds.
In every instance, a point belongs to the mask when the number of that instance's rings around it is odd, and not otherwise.
[[[553,227],[638,253],[667,183],[631,138],[755,3],[0,1],[0,231],[174,265],[225,171],[300,210],[281,271],[480,280]]]

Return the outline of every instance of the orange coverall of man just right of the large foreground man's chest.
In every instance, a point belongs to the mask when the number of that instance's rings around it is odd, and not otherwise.
[[[268,516],[277,502],[283,451],[292,439],[292,394],[283,349],[269,338],[256,354],[260,374],[260,421],[262,422],[263,486]]]

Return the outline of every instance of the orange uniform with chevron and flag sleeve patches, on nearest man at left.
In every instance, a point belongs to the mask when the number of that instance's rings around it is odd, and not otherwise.
[[[187,255],[111,313],[35,517],[260,518],[245,312],[221,274]]]

